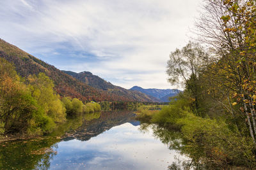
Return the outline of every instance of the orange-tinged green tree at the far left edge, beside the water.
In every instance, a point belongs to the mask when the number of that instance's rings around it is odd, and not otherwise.
[[[12,64],[0,59],[0,132],[42,134],[49,123]]]

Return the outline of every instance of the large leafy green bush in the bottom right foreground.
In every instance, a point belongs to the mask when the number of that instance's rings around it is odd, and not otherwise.
[[[255,164],[253,142],[241,136],[238,129],[230,130],[224,120],[184,112],[186,117],[177,120],[177,124],[182,126],[181,132],[186,141],[184,152],[189,153],[196,162],[203,161],[209,168]]]

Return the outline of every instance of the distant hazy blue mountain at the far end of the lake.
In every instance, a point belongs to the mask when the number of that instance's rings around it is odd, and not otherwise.
[[[177,89],[143,89],[138,86],[134,86],[130,90],[139,91],[147,94],[147,96],[156,97],[162,102],[169,102],[169,97],[176,96],[179,94],[179,92],[181,92]]]

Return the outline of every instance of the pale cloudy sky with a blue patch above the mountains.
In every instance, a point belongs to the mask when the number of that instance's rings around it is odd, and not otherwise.
[[[170,52],[202,0],[1,0],[0,38],[57,67],[126,89],[169,89]]]

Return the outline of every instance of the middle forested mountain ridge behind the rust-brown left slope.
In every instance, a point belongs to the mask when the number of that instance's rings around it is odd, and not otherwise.
[[[95,87],[100,90],[107,91],[108,94],[117,95],[117,96],[125,96],[129,99],[133,99],[134,101],[153,101],[153,102],[161,102],[156,97],[147,96],[142,92],[127,90],[122,87],[118,87],[116,85],[111,84],[110,82],[103,80],[99,76],[93,75],[88,71],[83,71],[81,73],[75,73],[72,71],[64,71],[63,73],[67,73],[70,76],[73,76],[77,80],[86,83],[86,85],[90,85],[91,87]]]

